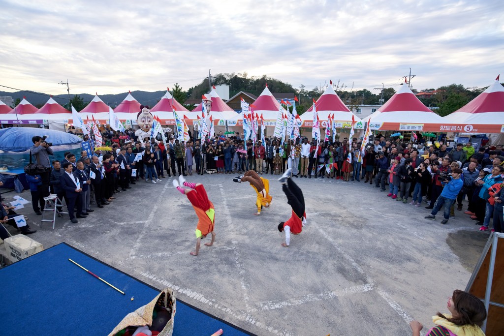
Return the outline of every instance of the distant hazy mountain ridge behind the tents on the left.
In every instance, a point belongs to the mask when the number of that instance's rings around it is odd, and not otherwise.
[[[156,92],[148,92],[148,91],[133,91],[131,94],[132,96],[142,105],[149,105],[149,107],[153,107],[154,105],[157,104],[157,102],[164,96],[166,91],[156,91]],[[73,98],[75,94],[72,94],[71,97]],[[77,94],[80,96],[83,100],[84,103],[90,102],[93,98],[94,95],[90,95],[87,93],[80,93]],[[18,91],[18,92],[5,92],[5,91],[0,91],[0,96],[11,96],[13,100],[16,100],[17,98],[23,99],[23,96],[26,97],[26,100],[28,100],[31,104],[37,106],[44,105],[47,100],[49,99],[49,94],[46,93],[40,93],[40,92],[26,92],[26,91]],[[106,104],[112,106],[114,108],[115,106],[119,105],[124,98],[128,96],[128,92],[124,93],[119,93],[115,95],[99,95],[100,99],[103,100]],[[57,101],[60,105],[64,105],[68,103],[68,95],[54,95],[52,97],[55,101]]]

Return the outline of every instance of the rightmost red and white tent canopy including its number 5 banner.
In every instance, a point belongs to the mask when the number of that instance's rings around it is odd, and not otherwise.
[[[497,77],[498,79],[498,77]],[[443,130],[461,124],[463,132],[504,132],[504,87],[498,80],[457,111],[443,117]],[[457,130],[459,131],[459,130]]]

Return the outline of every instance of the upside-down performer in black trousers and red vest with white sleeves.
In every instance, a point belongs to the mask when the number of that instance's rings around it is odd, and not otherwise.
[[[292,215],[287,222],[278,224],[278,231],[285,231],[285,243],[282,246],[288,247],[290,244],[290,234],[300,234],[306,224],[306,213],[304,212],[304,197],[301,189],[290,178],[289,168],[278,180],[282,183],[282,189],[287,196],[287,203],[292,208]]]

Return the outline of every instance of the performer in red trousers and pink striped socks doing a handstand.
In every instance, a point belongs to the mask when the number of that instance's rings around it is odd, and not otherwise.
[[[191,189],[184,189],[180,185],[189,187]],[[214,205],[208,199],[207,191],[201,183],[186,182],[185,178],[180,175],[178,181],[173,180],[173,186],[186,195],[198,216],[198,225],[196,226],[196,251],[191,252],[191,255],[198,255],[200,252],[200,242],[209,233],[212,234],[212,240],[206,243],[206,246],[212,246],[215,240],[214,223],[215,223],[215,210]],[[192,190],[193,189],[193,190]]]

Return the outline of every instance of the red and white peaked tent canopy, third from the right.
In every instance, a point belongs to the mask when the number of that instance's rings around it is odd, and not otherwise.
[[[353,115],[355,122],[360,121],[360,118],[353,114],[348,107],[343,104],[340,97],[334,92],[332,85],[328,86],[322,96],[317,99],[315,108],[317,109],[320,120],[329,120],[329,116],[331,116],[332,120],[336,123],[345,124],[352,122]],[[311,123],[313,122],[313,105],[301,114],[299,118],[303,121],[301,127],[311,127]]]

